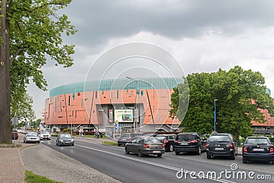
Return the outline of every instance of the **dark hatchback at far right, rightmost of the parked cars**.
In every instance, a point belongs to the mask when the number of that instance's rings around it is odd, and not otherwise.
[[[270,161],[274,164],[274,146],[266,136],[249,136],[242,146],[242,162]]]

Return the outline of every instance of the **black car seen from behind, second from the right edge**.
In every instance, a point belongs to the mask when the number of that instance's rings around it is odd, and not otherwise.
[[[235,160],[238,153],[237,143],[232,134],[212,134],[206,144],[206,157],[226,156]]]

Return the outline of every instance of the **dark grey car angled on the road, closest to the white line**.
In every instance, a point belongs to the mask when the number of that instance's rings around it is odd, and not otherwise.
[[[164,151],[164,144],[153,136],[136,136],[125,144],[125,154],[132,152],[140,157],[149,154],[161,157]]]

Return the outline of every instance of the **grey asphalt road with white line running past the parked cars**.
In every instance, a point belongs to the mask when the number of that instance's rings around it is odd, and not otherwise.
[[[101,145],[86,139],[75,139],[73,147],[58,147],[55,138],[42,143],[121,182],[274,182],[273,164],[242,164],[241,156],[236,156],[236,160],[208,160],[206,153],[177,156],[166,152],[162,158],[140,158],[136,154],[125,154],[124,147]],[[201,176],[190,173],[192,171]],[[213,175],[213,178],[206,175]]]

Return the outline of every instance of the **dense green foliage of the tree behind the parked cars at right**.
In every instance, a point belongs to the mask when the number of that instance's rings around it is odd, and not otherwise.
[[[264,77],[259,72],[244,71],[235,66],[228,72],[219,69],[215,73],[192,73],[187,77],[189,84],[189,106],[186,116],[179,117],[186,132],[211,133],[214,129],[214,99],[216,101],[216,130],[229,132],[236,137],[253,134],[251,121],[263,123],[264,115],[260,109],[274,114],[273,100],[266,93]],[[178,101],[176,92],[171,95],[171,117],[174,117]],[[256,101],[256,102],[252,102]],[[184,111],[183,111],[184,112]]]

